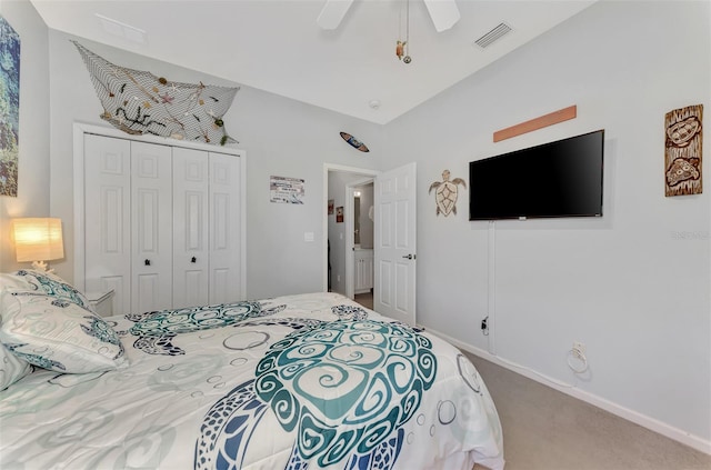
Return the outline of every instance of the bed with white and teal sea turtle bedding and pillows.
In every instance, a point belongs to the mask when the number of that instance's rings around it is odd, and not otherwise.
[[[502,469],[455,348],[331,292],[110,317],[0,274],[2,469]]]

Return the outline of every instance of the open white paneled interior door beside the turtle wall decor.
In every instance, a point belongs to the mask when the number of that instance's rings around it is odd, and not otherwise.
[[[373,309],[415,324],[417,163],[375,178]]]

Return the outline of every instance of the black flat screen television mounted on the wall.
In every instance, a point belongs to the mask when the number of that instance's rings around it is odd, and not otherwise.
[[[604,130],[469,163],[469,220],[602,216]]]

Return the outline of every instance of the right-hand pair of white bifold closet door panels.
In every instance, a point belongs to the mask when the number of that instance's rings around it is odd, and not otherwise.
[[[240,161],[173,149],[173,304],[239,300]]]

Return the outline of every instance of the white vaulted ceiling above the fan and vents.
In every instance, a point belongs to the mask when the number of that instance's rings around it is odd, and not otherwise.
[[[317,24],[326,0],[31,1],[51,29],[381,124],[594,2],[457,0],[460,21],[437,33],[424,3],[410,0],[405,64],[395,57],[405,1],[356,0],[334,31]],[[144,31],[144,42],[98,16]],[[473,43],[502,22],[512,31]]]

